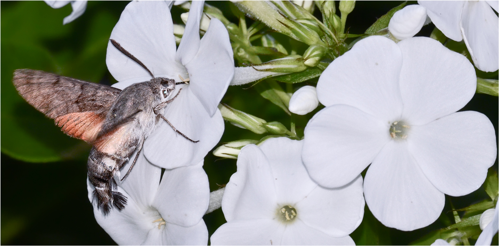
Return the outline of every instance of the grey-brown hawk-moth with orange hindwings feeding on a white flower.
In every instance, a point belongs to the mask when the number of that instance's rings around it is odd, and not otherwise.
[[[94,198],[104,215],[111,208],[122,210],[127,202],[115,191],[119,170],[137,151],[137,161],[147,136],[159,120],[165,120],[176,132],[191,140],[160,113],[169,102],[178,82],[154,77],[149,69],[115,40],[112,44],[139,63],[152,76],[149,81],[132,84],[123,90],[32,69],[17,69],[12,82],[19,94],[37,110],[54,119],[55,124],[71,137],[91,144],[88,157],[88,179],[95,187]],[[198,141],[193,141],[198,142]]]

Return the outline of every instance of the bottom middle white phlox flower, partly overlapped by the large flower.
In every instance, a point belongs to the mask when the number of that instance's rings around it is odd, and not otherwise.
[[[348,235],[364,215],[362,177],[337,189],[317,185],[302,144],[281,137],[241,150],[222,199],[227,223],[212,245],[354,245]]]

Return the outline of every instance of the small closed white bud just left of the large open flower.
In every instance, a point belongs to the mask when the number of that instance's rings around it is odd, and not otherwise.
[[[305,115],[312,112],[317,105],[319,105],[317,90],[313,86],[305,85],[291,96],[291,99],[289,100],[289,111],[295,114]]]

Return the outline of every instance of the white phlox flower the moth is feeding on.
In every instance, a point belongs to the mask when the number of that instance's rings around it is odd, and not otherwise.
[[[140,60],[155,77],[166,77],[179,84],[170,93],[164,116],[190,139],[184,138],[165,121],[144,142],[143,152],[154,165],[171,169],[196,165],[219,142],[224,120],[217,108],[234,75],[234,58],[224,24],[212,18],[202,39],[199,22],[203,1],[194,1],[179,48],[175,45],[171,2],[132,1],[123,10],[111,32],[111,39]],[[123,89],[152,77],[142,66],[109,42],[106,64]],[[133,171],[132,171],[133,172]]]

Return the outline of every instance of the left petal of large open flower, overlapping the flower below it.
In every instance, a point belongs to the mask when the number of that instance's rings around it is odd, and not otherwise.
[[[324,187],[341,187],[364,170],[391,140],[381,121],[348,105],[329,106],[305,127],[302,159],[310,177]]]

